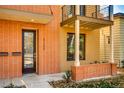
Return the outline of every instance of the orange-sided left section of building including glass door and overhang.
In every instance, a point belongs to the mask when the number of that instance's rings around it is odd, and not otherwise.
[[[60,11],[60,6],[0,6],[0,79],[60,72]]]

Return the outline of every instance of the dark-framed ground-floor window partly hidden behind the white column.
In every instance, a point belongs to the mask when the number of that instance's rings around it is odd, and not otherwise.
[[[85,35],[80,34],[80,60],[85,59]],[[67,60],[75,60],[75,35],[74,33],[67,34]]]

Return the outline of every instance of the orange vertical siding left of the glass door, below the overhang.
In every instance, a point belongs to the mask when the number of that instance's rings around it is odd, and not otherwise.
[[[0,21],[0,52],[20,52],[19,24]],[[21,76],[21,56],[0,56],[0,78]]]

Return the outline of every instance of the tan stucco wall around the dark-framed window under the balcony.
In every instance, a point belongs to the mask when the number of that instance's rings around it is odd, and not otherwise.
[[[73,32],[71,28],[61,28],[60,30],[60,67],[61,71],[70,70],[74,61],[67,61],[67,33]],[[99,30],[84,31],[85,34],[85,60],[80,60],[81,64],[88,64],[99,60]]]

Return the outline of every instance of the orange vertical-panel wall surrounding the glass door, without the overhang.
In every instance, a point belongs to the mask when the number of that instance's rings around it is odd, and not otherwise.
[[[7,8],[8,7],[20,8],[20,6],[7,6]],[[22,6],[22,8],[24,7]],[[26,7],[28,8],[28,6]],[[41,8],[42,7],[43,6],[41,6]],[[54,18],[46,25],[0,20],[0,52],[22,52],[22,29],[37,29],[37,73],[50,74],[60,72],[60,16],[58,16],[60,14],[60,7],[51,6],[51,8],[53,10]],[[32,9],[32,11],[35,10]],[[43,11],[46,12],[46,10]],[[11,78],[21,75],[22,56],[0,56],[0,78]]]

